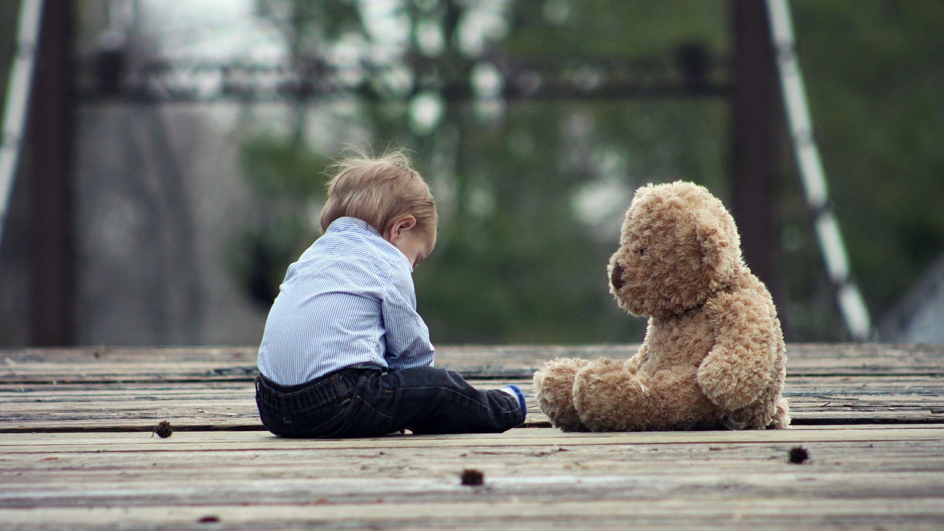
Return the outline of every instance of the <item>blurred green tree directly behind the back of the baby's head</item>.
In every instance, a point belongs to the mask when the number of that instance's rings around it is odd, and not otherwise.
[[[300,84],[293,91],[288,134],[254,131],[242,146],[243,173],[259,198],[258,210],[230,246],[229,262],[249,299],[268,308],[287,266],[317,235],[305,217],[322,196],[329,161],[305,143],[312,79],[318,78],[326,47],[356,28],[359,17],[348,2],[260,0],[256,11],[278,27]]]

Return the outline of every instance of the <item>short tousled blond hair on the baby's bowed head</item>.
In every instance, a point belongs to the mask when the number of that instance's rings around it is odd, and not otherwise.
[[[321,229],[343,216],[366,221],[381,234],[396,218],[412,214],[416,225],[436,226],[436,203],[430,186],[400,150],[372,158],[356,151],[332,166],[337,174],[328,183],[328,201],[321,209]]]

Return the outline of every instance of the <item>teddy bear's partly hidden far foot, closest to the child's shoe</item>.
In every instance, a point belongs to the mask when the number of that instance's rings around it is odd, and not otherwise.
[[[555,428],[565,432],[587,431],[574,409],[572,396],[574,377],[587,363],[577,358],[557,358],[534,373],[538,408]]]

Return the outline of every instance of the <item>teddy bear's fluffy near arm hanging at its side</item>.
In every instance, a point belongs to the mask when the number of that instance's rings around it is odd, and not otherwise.
[[[705,304],[715,345],[701,361],[698,381],[708,400],[727,412],[755,402],[773,373],[770,311],[751,295],[724,293]]]

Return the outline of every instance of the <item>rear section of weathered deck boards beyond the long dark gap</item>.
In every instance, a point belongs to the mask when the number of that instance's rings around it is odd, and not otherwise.
[[[555,356],[620,357],[635,346],[453,347],[441,366],[533,396],[534,368]],[[790,345],[784,393],[794,422],[944,422],[944,348]],[[261,429],[253,348],[0,351],[0,433]],[[491,378],[490,380],[486,378]],[[496,379],[497,378],[497,379]],[[504,378],[504,380],[501,380]],[[527,425],[547,426],[532,404]]]

